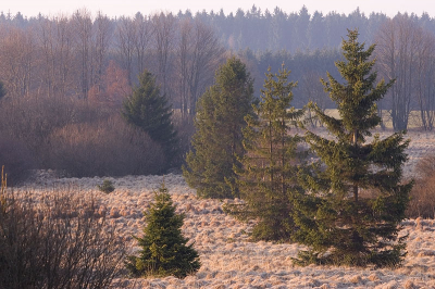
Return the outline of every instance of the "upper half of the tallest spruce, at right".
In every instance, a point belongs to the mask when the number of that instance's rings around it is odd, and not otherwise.
[[[322,79],[325,91],[337,104],[340,117],[328,117],[319,110],[316,113],[338,138],[351,139],[357,134],[357,142],[361,143],[364,142],[364,136],[371,136],[370,130],[380,125],[382,120],[377,115],[375,102],[385,96],[393,83],[381,80],[375,85],[377,73],[372,72],[375,46],[365,50],[365,43],[358,42],[358,30],[348,32],[348,39],[344,39],[341,45],[345,60],[336,62],[344,83],[339,83],[330,73],[328,81]]]

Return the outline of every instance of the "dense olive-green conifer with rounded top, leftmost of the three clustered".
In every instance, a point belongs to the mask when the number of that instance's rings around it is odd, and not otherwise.
[[[231,58],[216,72],[215,84],[197,103],[192,151],[186,156],[183,175],[202,198],[238,196],[233,166],[243,155],[244,117],[252,113],[252,78],[245,64]]]

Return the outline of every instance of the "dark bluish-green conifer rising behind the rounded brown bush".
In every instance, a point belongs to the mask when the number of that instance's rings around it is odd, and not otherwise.
[[[122,114],[162,147],[166,166],[171,165],[177,153],[178,139],[171,122],[171,106],[165,96],[160,95],[156,77],[150,72],[145,71],[139,76],[139,86],[123,102]]]

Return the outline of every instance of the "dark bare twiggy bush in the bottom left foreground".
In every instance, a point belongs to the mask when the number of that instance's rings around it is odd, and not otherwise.
[[[90,197],[3,190],[1,200],[0,288],[108,288],[121,274],[124,243]]]

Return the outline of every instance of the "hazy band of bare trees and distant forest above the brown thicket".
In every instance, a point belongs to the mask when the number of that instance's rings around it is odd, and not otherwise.
[[[430,96],[435,81],[430,58],[435,21],[427,13],[398,13],[390,18],[383,13],[365,15],[359,9],[348,15],[310,14],[306,7],[286,13],[256,5],[229,14],[187,10],[137,12],[116,18],[102,12],[92,15],[85,9],[70,16],[30,18],[20,12],[0,13],[0,80],[9,96],[58,95],[120,102],[147,68],[172,106],[186,116],[194,115],[199,96],[212,85],[227,51],[247,63],[254,91],[260,91],[268,67],[276,71],[284,62],[291,70],[290,80],[298,81],[295,106],[323,98],[325,108],[334,108],[320,86],[308,84],[326,77],[325,72],[335,73],[334,60],[339,58],[347,28],[358,28],[361,41],[377,43],[380,73],[398,78],[380,103],[380,113],[387,110],[394,128],[403,129],[412,121],[410,112],[418,110],[421,125],[432,129],[434,101]],[[387,36],[388,30],[394,36]],[[391,54],[388,47],[396,51]],[[410,80],[407,72],[421,77]]]

